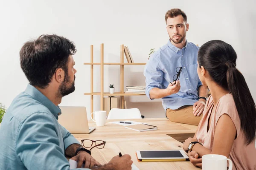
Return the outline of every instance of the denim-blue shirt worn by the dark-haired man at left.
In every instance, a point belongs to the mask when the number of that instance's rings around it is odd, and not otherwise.
[[[69,170],[65,150],[79,142],[58,123],[60,114],[58,106],[28,85],[0,125],[0,169]]]

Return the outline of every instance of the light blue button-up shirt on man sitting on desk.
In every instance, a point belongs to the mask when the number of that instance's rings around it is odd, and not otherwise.
[[[163,108],[177,109],[184,105],[194,105],[198,101],[198,87],[202,85],[197,74],[197,55],[199,47],[186,41],[182,49],[170,41],[156,51],[145,65],[146,95],[150,99],[152,88],[166,89],[177,67],[182,67],[180,74],[180,91],[162,98]],[[179,69],[177,69],[178,71]]]

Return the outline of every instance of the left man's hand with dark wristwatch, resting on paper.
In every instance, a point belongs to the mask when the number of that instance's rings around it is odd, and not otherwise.
[[[77,168],[81,168],[83,162],[84,168],[92,168],[93,166],[101,167],[102,165],[96,161],[89,153],[85,151],[79,151],[76,156],[70,158],[78,162]]]

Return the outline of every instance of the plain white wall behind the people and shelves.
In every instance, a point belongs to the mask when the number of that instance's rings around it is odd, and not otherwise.
[[[19,65],[19,50],[24,42],[41,34],[58,34],[75,42],[76,91],[63,98],[61,105],[86,106],[90,112],[90,45],[95,62],[100,61],[100,44],[105,44],[105,62],[119,62],[120,45],[128,45],[135,62],[147,62],[150,48],[168,41],[164,15],[171,8],[186,12],[187,40],[202,45],[209,40],[224,40],[238,54],[238,68],[244,74],[256,99],[256,3],[246,0],[0,0],[0,102],[7,107],[24,91],[28,81]],[[100,90],[99,66],[95,66],[95,91]],[[125,66],[125,86],[144,85],[144,66]],[[105,66],[105,87],[114,83],[119,91],[119,66]],[[243,82],[241,82],[243,83]],[[94,108],[99,110],[99,96]],[[159,100],[145,96],[126,96],[128,108],[137,107],[146,117],[164,117]]]

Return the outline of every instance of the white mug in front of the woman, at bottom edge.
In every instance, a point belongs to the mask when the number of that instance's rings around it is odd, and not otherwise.
[[[227,170],[227,161],[229,161],[228,170],[232,170],[233,163],[223,155],[209,154],[202,157],[202,170]]]

